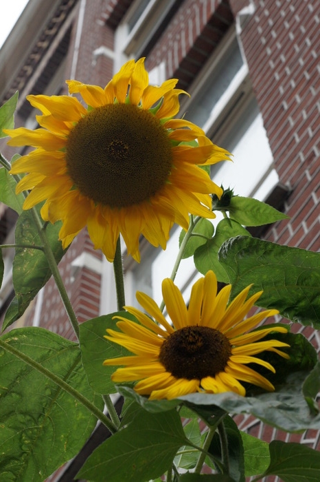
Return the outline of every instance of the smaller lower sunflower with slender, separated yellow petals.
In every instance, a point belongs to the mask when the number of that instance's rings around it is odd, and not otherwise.
[[[217,294],[216,275],[209,271],[192,287],[187,307],[172,280],[164,280],[163,299],[173,326],[148,295],[138,292],[139,304],[155,322],[132,306],[126,306],[126,311],[139,323],[115,317],[120,320],[117,327],[121,331],[108,329],[105,338],[135,355],[104,361],[104,365],[124,366],[113,373],[113,381],[138,381],[135,391],[150,395],[150,399],[172,399],[193,392],[245,395],[240,381],[274,390],[270,381],[247,364],[259,364],[274,373],[271,364],[253,355],[266,350],[288,358],[278,350],[288,344],[263,340],[268,333],[287,330],[273,326],[249,333],[265,317],[279,313],[271,309],[244,319],[262,294],[260,291],[247,300],[250,287],[228,304],[231,285]]]

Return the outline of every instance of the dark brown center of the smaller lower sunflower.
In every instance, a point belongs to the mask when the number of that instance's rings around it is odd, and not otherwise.
[[[225,335],[208,326],[185,326],[163,342],[160,362],[176,378],[201,380],[222,372],[231,355]]]

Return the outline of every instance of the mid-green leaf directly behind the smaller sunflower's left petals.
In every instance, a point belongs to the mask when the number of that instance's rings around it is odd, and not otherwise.
[[[84,370],[86,370],[89,384],[93,390],[102,395],[117,392],[115,384],[111,381],[111,375],[115,372],[117,366],[104,366],[104,360],[132,355],[123,346],[109,342],[108,339],[104,338],[104,335],[107,335],[106,328],[117,330],[117,319],[113,319],[115,315],[135,319],[130,313],[121,311],[89,319],[79,326]]]

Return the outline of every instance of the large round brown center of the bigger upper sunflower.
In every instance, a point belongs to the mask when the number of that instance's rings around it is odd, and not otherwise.
[[[71,129],[69,176],[79,191],[111,207],[137,205],[168,180],[172,146],[165,128],[131,104],[93,109]]]

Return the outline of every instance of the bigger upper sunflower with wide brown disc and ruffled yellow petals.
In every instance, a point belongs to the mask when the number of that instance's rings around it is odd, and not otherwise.
[[[31,190],[23,209],[38,202],[44,220],[62,220],[67,247],[87,225],[96,249],[113,260],[121,233],[128,253],[139,261],[139,236],[165,249],[176,222],[184,229],[189,213],[214,218],[210,193],[222,190],[198,165],[229,159],[202,129],[179,112],[176,79],[148,84],[144,59],[128,61],[102,89],[67,81],[72,96],[27,96],[43,115],[41,129],[6,129],[12,146],[36,149],[12,165],[28,173],[17,192]],[[192,143],[190,143],[192,141]]]

